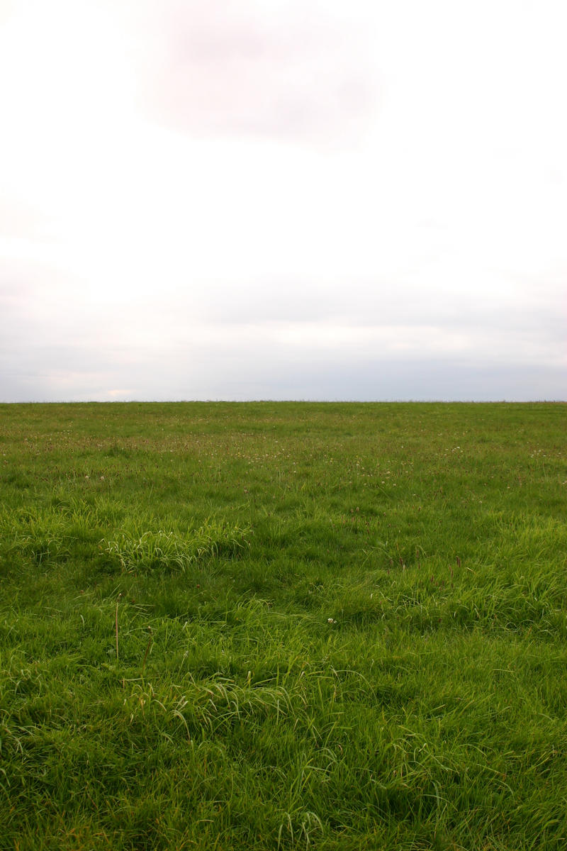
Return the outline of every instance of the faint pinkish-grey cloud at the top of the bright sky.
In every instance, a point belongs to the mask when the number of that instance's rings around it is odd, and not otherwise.
[[[356,26],[356,4],[354,26],[336,3],[143,9],[145,30],[133,48],[139,104],[174,128],[336,146],[363,132],[376,110],[371,40]],[[128,29],[139,15],[128,10]]]

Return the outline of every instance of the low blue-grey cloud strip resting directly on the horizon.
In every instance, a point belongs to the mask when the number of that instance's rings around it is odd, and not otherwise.
[[[242,353],[231,356],[207,351],[201,356],[152,361],[140,353],[128,365],[112,366],[94,353],[78,358],[77,351],[60,351],[60,368],[48,355],[48,369],[38,371],[34,363],[17,371],[3,368],[0,401],[87,401],[130,398],[145,400],[181,399],[306,399],[306,400],[449,400],[530,401],[564,398],[567,368],[531,363],[513,366],[478,363],[474,357],[435,359],[411,358],[405,362],[388,357],[371,357],[357,363],[331,357],[324,361],[309,357],[252,358]],[[68,359],[67,359],[68,358]],[[117,371],[122,383],[116,383]],[[120,388],[126,387],[122,391]]]

